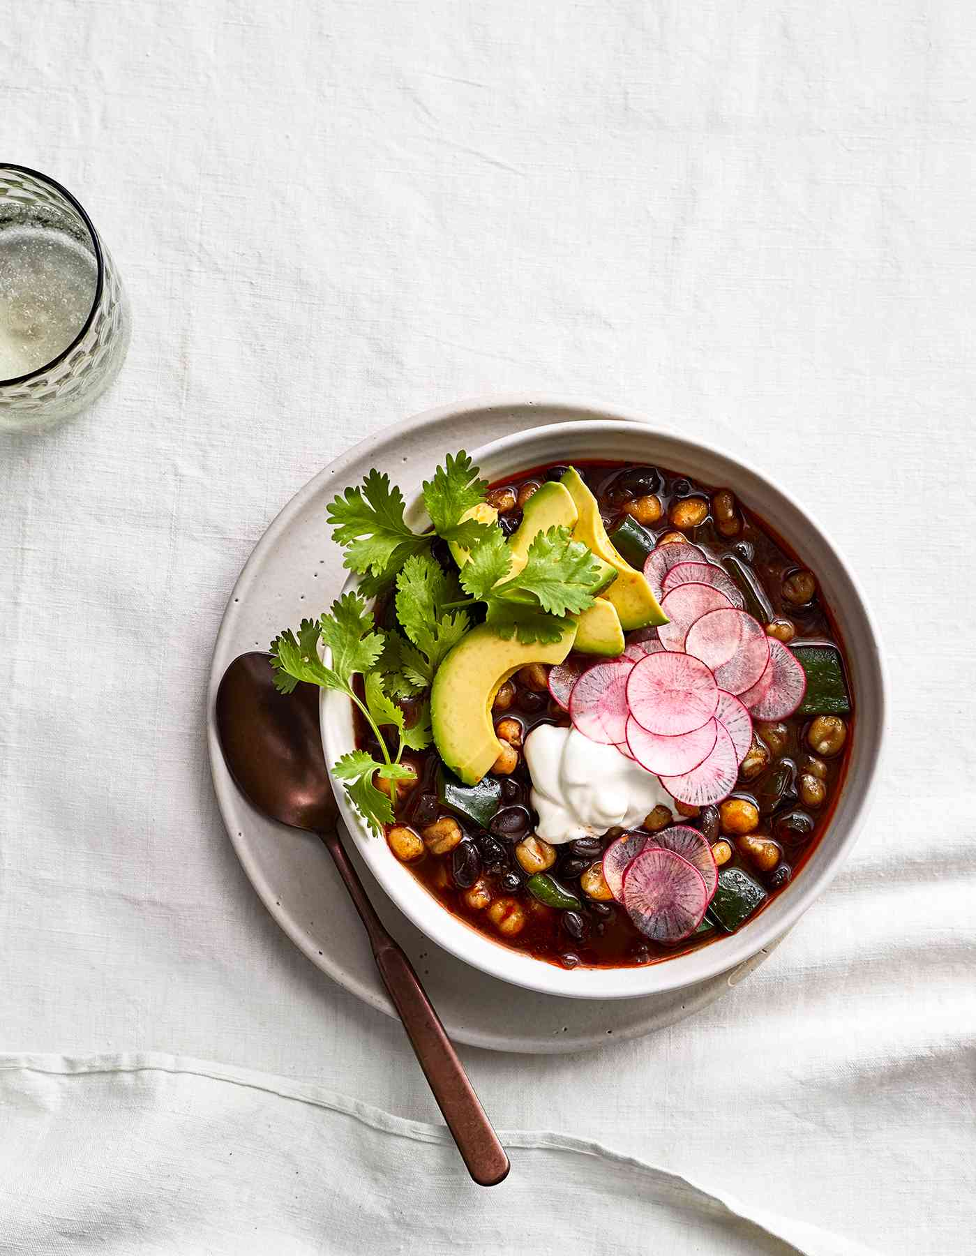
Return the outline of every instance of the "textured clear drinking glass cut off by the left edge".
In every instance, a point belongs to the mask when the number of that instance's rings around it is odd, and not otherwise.
[[[89,406],[129,334],[118,271],[77,198],[35,170],[0,165],[0,432]]]

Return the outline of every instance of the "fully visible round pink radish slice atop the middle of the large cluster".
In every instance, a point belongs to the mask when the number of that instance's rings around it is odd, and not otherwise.
[[[575,695],[574,690],[574,700]],[[717,705],[715,677],[705,663],[690,654],[671,651],[648,654],[633,664],[627,677],[626,706],[631,715],[648,732],[663,737],[678,737],[701,728],[715,715]]]

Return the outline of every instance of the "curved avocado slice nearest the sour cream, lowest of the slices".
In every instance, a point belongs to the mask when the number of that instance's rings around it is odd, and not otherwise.
[[[462,784],[477,785],[501,754],[491,720],[501,685],[528,663],[561,663],[575,636],[570,618],[551,646],[502,641],[487,624],[479,624],[447,654],[431,687],[431,725],[438,755]]]

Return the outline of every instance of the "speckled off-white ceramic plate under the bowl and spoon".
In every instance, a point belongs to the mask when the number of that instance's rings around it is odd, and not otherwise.
[[[328,852],[315,838],[258,815],[230,779],[214,723],[220,677],[237,654],[265,649],[283,624],[317,613],[337,595],[348,573],[329,538],[325,507],[371,467],[389,472],[409,495],[446,450],[475,448],[549,423],[627,417],[593,404],[521,397],[458,403],[398,422],[337,458],[289,501],[255,546],[227,603],[210,674],[207,736],[214,785],[234,849],[265,907],[295,946],[333,981],[388,1016],[393,1015],[392,1005]],[[347,849],[379,914],[423,977],[447,1031],[472,1046],[579,1051],[637,1037],[707,1006],[773,950],[770,946],[747,963],[700,985],[643,999],[604,1004],[534,993],[437,948],[389,902],[348,838]]]

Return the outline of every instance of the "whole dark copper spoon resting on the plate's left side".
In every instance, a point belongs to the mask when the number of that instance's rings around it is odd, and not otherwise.
[[[235,658],[217,690],[217,735],[237,788],[273,820],[317,834],[335,860],[369,934],[383,985],[453,1134],[467,1171],[480,1186],[495,1186],[509,1158],[406,955],[387,933],[343,849],[339,809],[319,740],[319,691],[299,685],[279,693],[268,654]]]

